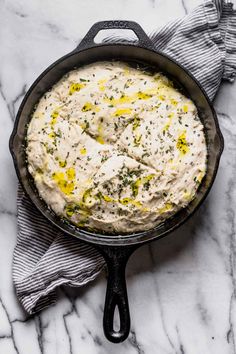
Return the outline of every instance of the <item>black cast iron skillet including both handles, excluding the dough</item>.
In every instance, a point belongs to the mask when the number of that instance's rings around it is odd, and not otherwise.
[[[138,41],[135,44],[112,42],[95,44],[94,38],[97,33],[100,30],[110,28],[131,29],[138,37]],[[207,173],[195,199],[163,224],[151,230],[125,235],[92,233],[65,223],[40,199],[27,170],[25,155],[26,128],[39,98],[66,72],[75,67],[95,61],[114,59],[154,66],[156,70],[161,70],[178,82],[198,108],[205,128],[208,149]],[[203,202],[215,179],[223,151],[223,137],[219,129],[216,113],[206,93],[186,69],[170,57],[154,49],[151,40],[137,23],[131,21],[98,22],[92,26],[75,50],[53,63],[30,87],[17,113],[14,129],[10,137],[10,151],[19,181],[25,193],[38,210],[65,233],[93,244],[105,258],[108,267],[108,283],[103,319],[104,333],[111,342],[122,342],[127,338],[130,330],[130,315],[125,283],[125,266],[129,256],[145,242],[160,239],[184,223]],[[120,316],[119,331],[115,331],[113,328],[116,306]]]

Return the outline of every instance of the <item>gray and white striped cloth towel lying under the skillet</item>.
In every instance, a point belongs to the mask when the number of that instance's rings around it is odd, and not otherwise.
[[[236,74],[236,12],[230,3],[206,0],[184,18],[150,35],[156,48],[189,69],[212,100],[222,79]],[[56,300],[63,284],[93,280],[104,260],[89,245],[51,225],[18,190],[18,239],[13,257],[17,296],[28,313]]]

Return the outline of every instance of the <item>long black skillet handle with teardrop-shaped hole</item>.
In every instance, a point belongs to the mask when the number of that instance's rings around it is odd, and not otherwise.
[[[123,342],[129,335],[130,315],[125,281],[125,267],[137,246],[102,246],[99,251],[106,260],[108,280],[104,307],[103,329],[106,338],[113,343]],[[114,330],[114,314],[117,308],[120,328]]]

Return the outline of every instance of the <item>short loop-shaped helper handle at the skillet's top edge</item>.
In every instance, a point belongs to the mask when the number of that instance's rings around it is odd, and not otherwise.
[[[89,48],[89,47],[95,47],[99,46],[99,44],[96,44],[94,42],[94,38],[98,34],[99,31],[101,30],[107,30],[107,29],[129,29],[132,30],[136,36],[138,37],[138,44],[140,44],[143,47],[146,48],[153,48],[153,43],[151,39],[147,36],[147,34],[144,32],[142,27],[134,21],[121,21],[121,20],[115,20],[115,21],[100,21],[96,22],[88,31],[88,33],[84,36],[78,47],[74,50],[79,51],[81,49]]]

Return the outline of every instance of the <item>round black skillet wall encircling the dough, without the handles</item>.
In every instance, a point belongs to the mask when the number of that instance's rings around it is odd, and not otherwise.
[[[164,74],[166,73],[176,80],[180,86],[183,87],[185,94],[194,101],[198,108],[200,119],[204,124],[208,148],[207,174],[202,181],[195,199],[185,209],[182,209],[162,225],[159,225],[152,230],[133,235],[93,234],[87,231],[78,230],[73,225],[63,222],[58,216],[50,211],[45,202],[39,198],[32,177],[26,166],[26,127],[32,111],[40,97],[68,71],[95,61],[109,61],[112,59],[132,61],[136,63],[144,63],[147,64],[147,66],[154,66],[157,71],[162,71]],[[22,183],[25,192],[46,218],[64,232],[84,241],[118,246],[143,243],[157,237],[163,237],[185,222],[185,220],[192,215],[204,200],[212,186],[217,172],[219,158],[223,150],[223,138],[218,127],[214,109],[206,98],[203,90],[191,75],[178,66],[173,60],[160,53],[142,47],[109,44],[88,48],[79,52],[72,52],[52,64],[40,75],[29,89],[18,111],[15,127],[10,140],[10,149],[13,154],[18,178]]]

